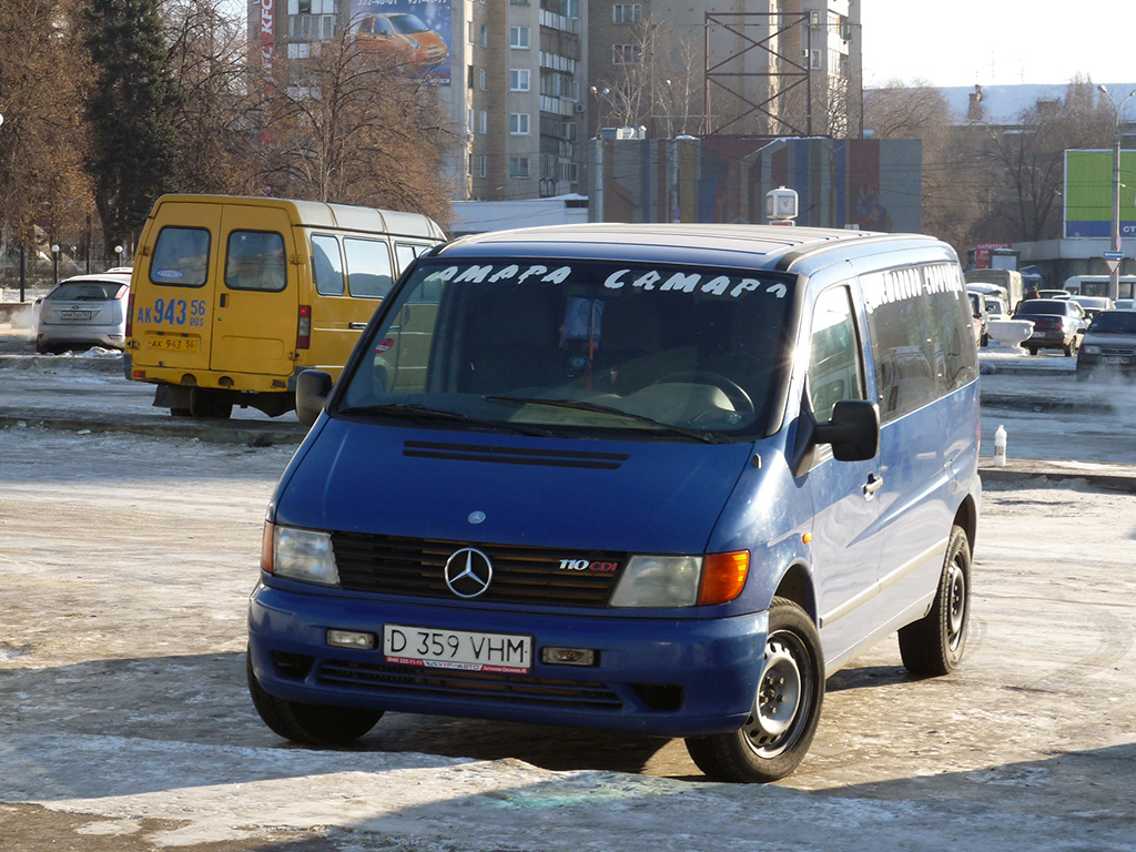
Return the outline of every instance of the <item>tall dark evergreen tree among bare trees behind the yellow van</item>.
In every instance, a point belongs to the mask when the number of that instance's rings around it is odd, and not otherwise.
[[[91,0],[85,18],[91,172],[109,248],[136,240],[158,195],[177,186],[177,89],[157,0]]]

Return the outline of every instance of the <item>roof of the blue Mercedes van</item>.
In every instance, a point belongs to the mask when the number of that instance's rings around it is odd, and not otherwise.
[[[882,251],[938,247],[944,259],[953,250],[921,234],[880,234],[840,228],[777,225],[588,223],[473,234],[441,247],[442,256],[561,257],[717,266],[810,273],[833,262]],[[811,262],[810,262],[811,261]]]

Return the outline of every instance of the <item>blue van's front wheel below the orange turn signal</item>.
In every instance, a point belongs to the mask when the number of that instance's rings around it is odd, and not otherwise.
[[[774,598],[749,721],[733,734],[690,737],[686,750],[699,769],[717,780],[784,778],[809,751],[824,700],[825,660],[817,627],[799,605]]]

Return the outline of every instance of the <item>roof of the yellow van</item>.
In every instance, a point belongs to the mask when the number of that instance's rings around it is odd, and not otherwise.
[[[272,207],[287,212],[294,227],[335,228],[337,231],[381,232],[394,236],[445,240],[445,233],[428,216],[401,210],[381,210],[374,207],[329,204],[323,201],[261,198],[256,195],[190,195],[169,194],[159,198],[150,216],[164,203],[243,204]]]

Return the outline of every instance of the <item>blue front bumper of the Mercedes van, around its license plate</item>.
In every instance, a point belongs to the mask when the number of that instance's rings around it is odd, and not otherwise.
[[[370,633],[385,623],[533,637],[526,675],[451,671],[386,662],[327,644],[328,629]],[[258,585],[249,653],[260,685],[307,704],[503,719],[659,736],[738,729],[761,670],[768,613],[730,618],[628,618],[466,609],[298,593]],[[588,667],[541,661],[544,648],[599,652]]]

